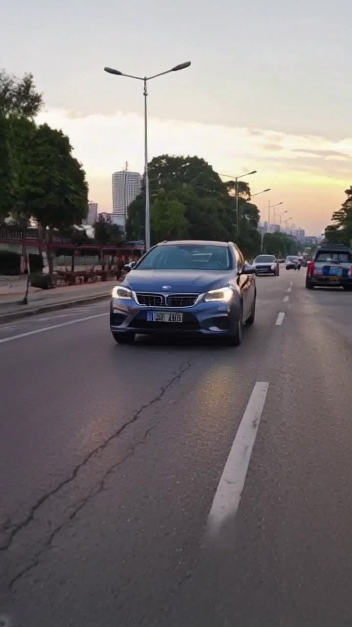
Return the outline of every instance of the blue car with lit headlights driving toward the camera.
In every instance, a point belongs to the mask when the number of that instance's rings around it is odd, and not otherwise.
[[[241,344],[256,313],[255,269],[232,242],[164,241],[113,288],[110,329],[116,342],[136,334],[214,335]]]

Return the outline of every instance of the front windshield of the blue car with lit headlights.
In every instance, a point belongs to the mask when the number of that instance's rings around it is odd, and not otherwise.
[[[138,265],[138,270],[230,270],[227,246],[168,244],[156,246]]]

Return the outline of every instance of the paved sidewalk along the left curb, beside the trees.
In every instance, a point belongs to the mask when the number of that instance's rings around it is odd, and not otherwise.
[[[17,277],[15,278],[17,279]],[[28,305],[21,303],[24,296],[25,281],[23,285],[19,281],[16,284],[13,282],[13,287],[7,289],[6,292],[3,283],[1,283],[0,289],[0,324],[28,315],[42,314],[56,309],[103,300],[110,296],[112,288],[116,285],[116,280],[56,287],[53,290],[30,288]]]

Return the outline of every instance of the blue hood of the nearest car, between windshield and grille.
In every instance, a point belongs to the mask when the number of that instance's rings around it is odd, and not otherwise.
[[[123,285],[134,292],[197,293],[223,287],[232,271],[131,270]]]

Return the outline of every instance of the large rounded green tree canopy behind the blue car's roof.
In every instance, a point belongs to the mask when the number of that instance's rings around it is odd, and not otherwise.
[[[241,238],[236,238],[234,182],[226,184],[199,157],[160,155],[148,165],[150,179],[151,240],[184,237],[204,240],[238,240],[246,255],[260,248],[259,211],[249,203],[251,190],[238,182]],[[171,209],[172,208],[172,209]],[[145,189],[128,209],[128,239],[144,238]]]

